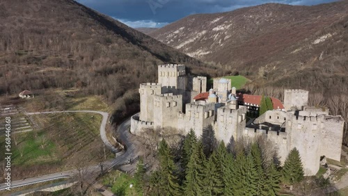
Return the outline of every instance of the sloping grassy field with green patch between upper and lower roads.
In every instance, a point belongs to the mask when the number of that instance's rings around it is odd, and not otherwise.
[[[24,116],[20,113],[17,115]],[[12,134],[15,179],[73,169],[77,161],[95,165],[100,154],[104,157],[99,131],[102,116],[90,113],[53,113],[28,117],[35,122],[35,129]],[[24,117],[27,122],[22,118],[19,121],[23,121],[23,125],[29,123],[28,117]],[[3,135],[0,136],[0,141],[3,149]],[[111,158],[113,154],[106,149],[106,156]]]

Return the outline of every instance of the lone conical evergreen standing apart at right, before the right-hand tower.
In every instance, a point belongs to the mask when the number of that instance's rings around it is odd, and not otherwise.
[[[303,180],[303,166],[299,150],[292,149],[283,167],[283,178],[287,183],[297,183]]]

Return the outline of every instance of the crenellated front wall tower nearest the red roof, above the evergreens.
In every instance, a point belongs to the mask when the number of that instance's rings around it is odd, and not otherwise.
[[[230,108],[218,108],[216,114],[215,132],[218,141],[225,144],[233,138],[237,140],[242,135],[246,124],[246,107],[240,106],[237,110]]]

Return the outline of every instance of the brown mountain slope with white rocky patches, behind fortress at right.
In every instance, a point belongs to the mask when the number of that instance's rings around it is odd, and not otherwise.
[[[189,56],[257,79],[258,85],[333,90],[346,84],[342,88],[348,92],[347,26],[348,1],[267,3],[191,15],[150,35]]]

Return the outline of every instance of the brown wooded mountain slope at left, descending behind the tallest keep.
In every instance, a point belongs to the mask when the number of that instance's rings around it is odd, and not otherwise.
[[[0,95],[79,87],[111,103],[155,81],[160,63],[203,63],[72,0],[4,0],[0,6]]]

